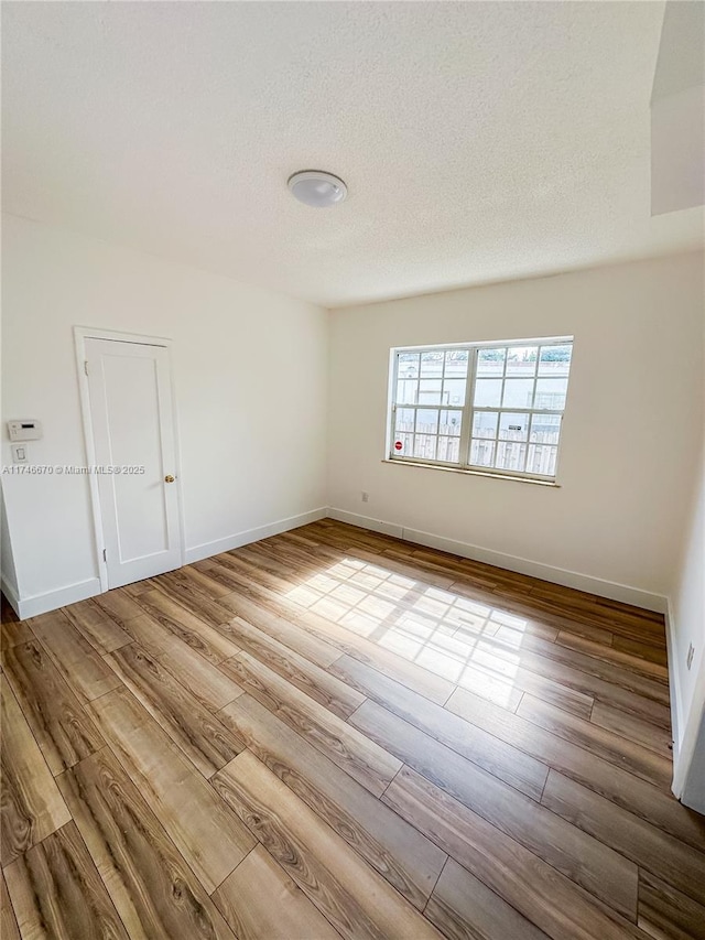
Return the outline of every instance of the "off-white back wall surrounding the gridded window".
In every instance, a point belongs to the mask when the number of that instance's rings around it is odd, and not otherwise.
[[[683,255],[334,311],[329,506],[628,585],[658,607],[699,446],[702,279]],[[560,488],[382,463],[391,347],[568,334]]]

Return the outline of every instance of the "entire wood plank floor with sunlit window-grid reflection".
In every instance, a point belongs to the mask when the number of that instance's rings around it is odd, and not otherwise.
[[[323,520],[2,619],[3,938],[705,938],[655,614]]]

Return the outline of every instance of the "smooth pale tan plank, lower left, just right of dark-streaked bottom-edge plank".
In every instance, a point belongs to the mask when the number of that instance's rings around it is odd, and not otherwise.
[[[254,839],[129,690],[97,699],[90,710],[130,779],[212,894]]]

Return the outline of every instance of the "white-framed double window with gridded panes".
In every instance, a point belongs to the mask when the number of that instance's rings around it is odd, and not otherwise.
[[[572,337],[392,350],[394,461],[555,479]]]

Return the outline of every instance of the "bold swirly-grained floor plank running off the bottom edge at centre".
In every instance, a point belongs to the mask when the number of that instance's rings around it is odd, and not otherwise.
[[[343,937],[438,940],[435,928],[249,750],[213,782]]]

